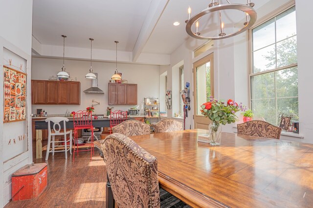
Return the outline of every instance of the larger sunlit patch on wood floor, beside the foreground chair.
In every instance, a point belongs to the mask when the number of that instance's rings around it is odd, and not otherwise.
[[[105,202],[106,182],[102,183],[85,183],[81,184],[77,192],[74,203],[87,202],[87,201],[100,201]]]

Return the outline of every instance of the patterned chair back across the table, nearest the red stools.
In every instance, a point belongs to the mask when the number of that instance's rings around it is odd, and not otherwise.
[[[112,128],[113,133],[121,133],[125,136],[150,134],[150,125],[132,119],[126,120]]]

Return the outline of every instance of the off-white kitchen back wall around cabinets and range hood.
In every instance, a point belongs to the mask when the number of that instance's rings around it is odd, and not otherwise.
[[[49,76],[56,76],[61,70],[62,59],[32,57],[32,79],[47,80]],[[94,106],[96,114],[106,113],[108,107],[108,82],[115,71],[115,63],[92,62],[94,73],[98,73],[98,87],[104,94],[85,94],[83,91],[91,87],[91,80],[85,75],[89,72],[90,61],[65,60],[66,71],[70,76],[77,77],[81,82],[81,104],[80,105],[33,105],[32,113],[36,109],[44,109],[48,114],[65,114],[71,111],[85,110],[91,106],[92,99],[100,102]],[[122,78],[128,83],[137,84],[138,107],[143,114],[143,98],[148,96],[159,96],[159,66],[144,64],[118,63],[117,69],[122,73]],[[133,106],[110,106],[113,110],[128,110]]]

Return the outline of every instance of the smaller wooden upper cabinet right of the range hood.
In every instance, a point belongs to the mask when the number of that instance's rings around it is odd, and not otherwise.
[[[109,105],[137,105],[137,84],[109,83]]]

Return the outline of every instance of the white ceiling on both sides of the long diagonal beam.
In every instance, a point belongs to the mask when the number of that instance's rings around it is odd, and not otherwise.
[[[132,52],[148,11],[158,0],[33,0],[33,36],[46,45],[63,45],[61,35],[67,35],[66,45],[114,50],[114,40],[119,40],[118,50]],[[252,0],[254,9],[269,0]],[[168,0],[142,52],[171,54],[189,36],[185,31],[187,8],[192,15],[205,9],[210,0]],[[246,3],[246,0],[231,2]],[[151,15],[151,14],[150,14]],[[234,19],[230,19],[234,20]],[[175,27],[174,21],[180,25]],[[202,25],[201,25],[202,26]],[[148,31],[149,33],[149,31]],[[141,34],[142,35],[142,34]],[[138,44],[138,43],[137,43]]]

